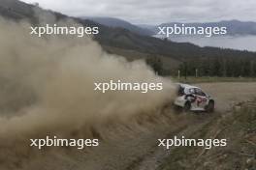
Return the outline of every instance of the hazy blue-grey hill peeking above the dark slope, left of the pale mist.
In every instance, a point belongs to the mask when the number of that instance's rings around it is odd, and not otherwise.
[[[81,17],[81,18],[90,19],[94,22],[97,22],[109,27],[124,28],[131,32],[144,35],[144,36],[154,35],[154,32],[149,29],[141,28],[139,26],[131,24],[130,22],[127,22],[125,20],[118,19],[118,18],[113,18],[113,17]]]

